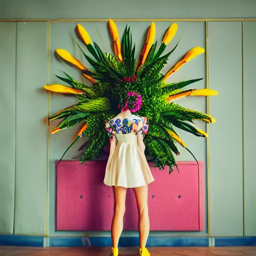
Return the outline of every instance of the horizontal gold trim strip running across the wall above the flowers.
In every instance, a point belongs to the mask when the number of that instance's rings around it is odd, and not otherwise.
[[[101,22],[108,18],[59,18],[59,19],[0,19],[0,22]],[[113,18],[114,21],[256,21],[256,18]]]

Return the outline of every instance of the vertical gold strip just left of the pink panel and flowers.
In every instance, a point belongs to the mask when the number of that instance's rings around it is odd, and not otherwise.
[[[46,84],[49,80],[49,21],[47,21],[47,73],[46,73]],[[47,120],[47,142],[46,142],[46,236],[48,236],[48,223],[49,223],[49,91],[47,90],[47,107],[46,107],[46,120]]]

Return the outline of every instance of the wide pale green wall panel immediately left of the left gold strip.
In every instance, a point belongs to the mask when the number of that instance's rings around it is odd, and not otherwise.
[[[45,234],[46,22],[17,23],[14,233]]]

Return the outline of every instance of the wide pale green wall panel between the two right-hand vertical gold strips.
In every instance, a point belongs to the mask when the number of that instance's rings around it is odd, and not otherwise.
[[[209,22],[211,236],[243,235],[242,23]]]

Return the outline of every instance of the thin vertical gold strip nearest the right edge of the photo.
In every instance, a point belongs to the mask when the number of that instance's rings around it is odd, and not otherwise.
[[[246,236],[245,232],[245,134],[244,134],[244,21],[242,22],[242,201],[243,201],[243,211],[242,211],[242,221],[243,221],[243,236]]]

